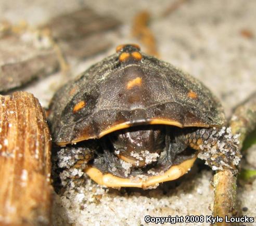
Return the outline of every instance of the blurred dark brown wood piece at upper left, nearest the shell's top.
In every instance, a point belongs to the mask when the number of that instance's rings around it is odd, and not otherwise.
[[[83,59],[108,49],[113,41],[107,32],[119,25],[113,17],[84,8],[53,18],[40,29],[51,31],[65,57]]]

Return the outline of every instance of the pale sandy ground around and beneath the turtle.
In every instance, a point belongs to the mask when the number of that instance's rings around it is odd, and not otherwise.
[[[229,116],[232,109],[256,88],[256,3],[254,0],[188,1],[172,14],[161,17],[174,1],[94,0],[59,1],[23,0],[0,2],[0,19],[17,22],[21,19],[39,24],[62,12],[90,6],[99,13],[116,16],[123,22],[120,32],[112,34],[117,44],[137,42],[130,35],[131,22],[140,10],[151,12],[150,28],[157,39],[161,59],[171,62],[199,78],[219,97]],[[72,62],[73,74],[114,51],[85,62]],[[60,85],[61,75],[55,74],[27,86],[44,107]],[[251,150],[255,153],[255,147]],[[256,167],[256,155],[247,156],[244,167]],[[146,215],[186,216],[211,215],[213,189],[212,173],[197,167],[184,179],[165,183],[156,190],[106,190],[86,179],[84,187],[55,195],[54,225],[147,225]],[[256,225],[256,180],[240,183],[238,200],[254,217]],[[187,223],[209,225],[209,223]],[[177,223],[176,225],[185,225]],[[246,224],[249,225],[249,224]]]

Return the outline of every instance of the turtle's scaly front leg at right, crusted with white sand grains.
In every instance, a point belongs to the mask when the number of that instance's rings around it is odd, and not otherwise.
[[[236,172],[241,154],[239,135],[233,135],[228,127],[198,128],[186,134],[189,147],[198,150],[198,157],[213,170],[231,169]]]

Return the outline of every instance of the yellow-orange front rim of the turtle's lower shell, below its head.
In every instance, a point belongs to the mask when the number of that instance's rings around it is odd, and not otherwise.
[[[134,180],[131,178],[120,178],[111,174],[104,175],[100,170],[91,166],[86,168],[84,171],[96,183],[100,185],[105,185],[106,187],[135,187],[146,189],[147,187],[153,186],[157,183],[175,180],[183,176],[193,166],[196,158],[197,156],[184,161],[180,165],[172,166],[170,169],[165,171],[163,175],[148,177],[146,180],[143,180],[141,178],[139,178],[138,180]]]

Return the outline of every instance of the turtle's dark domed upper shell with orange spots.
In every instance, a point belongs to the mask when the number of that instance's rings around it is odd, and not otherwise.
[[[206,86],[135,45],[119,47],[61,87],[49,110],[53,141],[59,145],[142,124],[183,128],[224,123],[221,104]]]

